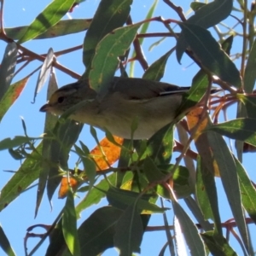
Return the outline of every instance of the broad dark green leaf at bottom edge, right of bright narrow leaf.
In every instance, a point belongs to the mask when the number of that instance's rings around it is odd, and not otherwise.
[[[113,247],[113,236],[123,211],[102,207],[93,212],[79,227],[81,255],[95,256]]]

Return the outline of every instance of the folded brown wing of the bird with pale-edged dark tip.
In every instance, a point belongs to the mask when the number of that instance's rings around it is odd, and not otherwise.
[[[179,87],[173,84],[166,84],[147,79],[113,79],[110,91],[120,93],[127,99],[143,100],[157,96],[166,96],[170,94],[183,93],[188,91],[189,87]]]

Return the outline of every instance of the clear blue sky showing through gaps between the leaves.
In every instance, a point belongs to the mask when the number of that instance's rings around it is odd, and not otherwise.
[[[5,2],[4,8],[4,26],[13,27],[13,26],[25,26],[32,22],[32,20],[42,11],[50,1],[41,0],[9,0]],[[65,19],[70,18],[91,18],[97,8],[99,0],[87,0],[86,2],[79,5],[78,8],[75,8],[70,16],[65,16]],[[134,22],[139,21],[142,17],[145,17],[148,13],[153,0],[137,0],[134,1],[132,5],[132,19]],[[190,1],[183,1],[183,9],[189,9]],[[173,15],[173,11],[169,9],[166,4],[160,3],[158,9],[156,9],[154,16],[163,16],[164,18],[177,19],[177,15]],[[149,27],[150,32],[159,32],[166,31],[163,26],[160,26],[157,22],[152,22]],[[32,42],[27,42],[24,46],[28,49],[32,49],[38,54],[47,53],[49,47],[52,47],[55,51],[61,49],[67,49],[79,44],[82,44],[84,40],[84,32],[81,32],[77,35],[67,36],[62,38],[55,38],[54,40],[35,40]],[[160,47],[155,47],[153,50],[148,51],[149,46],[157,41],[158,39],[145,39],[143,45],[143,51],[147,56],[148,63],[152,63],[154,60],[158,59],[161,55],[165,54],[167,49],[171,49],[175,45],[173,38],[166,38],[166,40],[160,44]],[[240,44],[237,44],[235,47],[239,47]],[[0,41],[0,55],[3,55],[3,51],[6,47],[6,44]],[[240,45],[241,46],[241,45]],[[239,51],[240,49],[232,49],[233,52]],[[69,55],[63,55],[58,58],[58,61],[62,65],[72,69],[74,72],[82,74],[84,73],[84,65],[82,63],[82,51],[79,50]],[[19,73],[13,82],[18,81],[26,76],[27,73],[31,73],[32,70],[41,65],[39,61],[34,61],[29,67],[26,67],[24,72]],[[168,61],[166,67],[166,75],[162,81],[166,81],[171,84],[178,84],[181,86],[188,86],[191,84],[193,76],[198,71],[193,62],[187,58],[183,57],[182,65],[179,65],[176,61],[176,56],[172,55]],[[141,77],[143,70],[136,64],[135,76]],[[73,78],[69,77],[65,73],[61,73],[56,70],[57,80],[59,86],[72,83]],[[28,84],[26,85],[25,90],[22,92],[20,98],[15,102],[15,105],[9,109],[9,112],[4,116],[0,124],[0,140],[3,140],[6,137],[15,137],[16,135],[22,135],[22,125],[20,117],[22,116],[26,122],[27,132],[30,137],[38,137],[44,131],[44,113],[39,113],[38,109],[46,101],[46,86],[40,91],[37,96],[36,102],[32,104],[33,94],[35,90],[35,84],[37,82],[38,73],[32,76],[29,79]],[[234,117],[235,109],[229,112],[229,117]],[[102,132],[99,132],[99,137],[104,137]],[[95,146],[94,140],[90,136],[88,125],[84,125],[84,130],[81,133],[80,139],[89,147],[93,148]],[[174,159],[174,158],[173,158]],[[247,154],[244,156],[245,167],[249,172],[249,175],[253,175],[253,154]],[[72,167],[76,159],[71,158],[70,166]],[[20,166],[20,162],[13,160],[7,151],[0,151],[0,188],[3,187],[5,183],[8,182],[9,178],[12,176],[10,172],[3,171],[16,171]],[[255,174],[251,177],[255,178]],[[255,179],[254,179],[255,180]],[[223,195],[222,186],[219,181],[218,190],[219,195]],[[76,200],[77,202],[79,199]],[[58,215],[61,207],[64,205],[65,200],[57,199],[57,195],[53,198],[53,210],[51,211],[49,207],[49,202],[44,196],[42,206],[39,209],[38,217],[34,219],[34,209],[36,202],[36,188],[30,189],[20,195],[15,201],[13,201],[6,209],[0,212],[0,223],[3,226],[3,230],[6,232],[6,235],[9,237],[9,241],[12,247],[15,249],[17,255],[23,255],[23,238],[26,235],[26,228],[32,224],[51,224],[55,217]],[[229,207],[227,207],[227,202],[222,196],[222,201],[220,203],[220,210],[224,214],[222,221],[225,221],[231,218],[231,213]],[[100,206],[106,205],[106,201],[102,201]],[[90,213],[94,212],[95,209],[99,206],[91,207],[90,209],[83,212],[81,220],[90,216]],[[166,202],[166,207],[171,207],[170,203]],[[172,224],[172,210],[167,212],[170,224]],[[163,218],[161,215],[155,215],[150,220],[149,225],[163,225]],[[44,230],[34,230],[34,232],[43,233]],[[255,232],[255,230],[253,230]],[[29,251],[32,249],[33,245],[38,239],[31,239],[28,242]],[[160,252],[160,248],[166,242],[166,235],[164,232],[147,233],[144,236],[144,242],[142,245],[142,255],[157,255]],[[236,243],[233,243],[234,247],[237,247]],[[35,255],[43,255],[47,247],[47,243],[44,243],[44,246],[36,253]],[[0,249],[1,250],[1,249]],[[114,255],[114,250],[108,250],[108,252],[103,255]],[[238,251],[240,252],[240,251]],[[0,253],[1,254],[1,253]],[[117,255],[118,253],[116,253]]]

